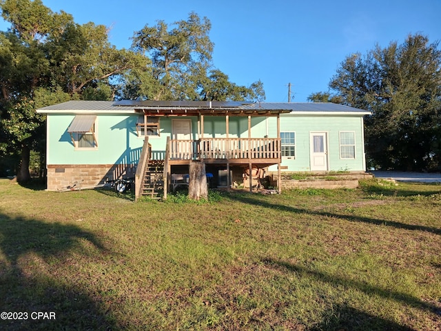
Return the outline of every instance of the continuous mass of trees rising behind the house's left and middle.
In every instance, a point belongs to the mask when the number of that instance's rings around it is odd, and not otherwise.
[[[168,30],[145,26],[133,50],[118,50],[108,29],[75,23],[41,0],[0,1],[11,24],[0,32],[0,152],[21,151],[21,175],[30,179],[29,152],[43,151],[44,120],[35,109],[69,99],[260,100],[263,84],[236,86],[212,68],[211,23],[192,12]]]

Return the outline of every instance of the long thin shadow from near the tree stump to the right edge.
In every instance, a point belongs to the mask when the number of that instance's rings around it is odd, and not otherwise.
[[[251,205],[258,205],[264,208],[271,208],[275,210],[283,210],[287,212],[296,212],[296,213],[307,213],[312,215],[318,215],[323,217],[337,217],[338,219],[345,219],[347,221],[351,222],[363,222],[363,223],[370,223],[374,225],[386,225],[386,226],[392,226],[393,228],[398,229],[404,229],[404,230],[416,230],[416,231],[427,231],[432,232],[435,234],[441,235],[441,229],[440,228],[432,228],[429,226],[424,225],[413,225],[413,224],[406,224],[401,223],[397,221],[389,221],[384,219],[373,219],[370,217],[359,217],[356,215],[345,215],[345,214],[336,214],[332,212],[322,212],[317,210],[309,210],[304,208],[295,208],[291,207],[289,205],[281,205],[278,203],[271,203],[268,201],[263,201],[263,199],[258,199],[258,197],[255,197],[252,193],[240,193],[240,194],[229,194],[229,199],[240,201],[242,203],[247,203]]]

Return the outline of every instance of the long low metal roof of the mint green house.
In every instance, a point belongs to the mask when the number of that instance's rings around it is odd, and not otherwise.
[[[178,114],[370,114],[366,110],[336,103],[250,103],[245,101],[67,101],[40,108],[41,113],[134,113]]]

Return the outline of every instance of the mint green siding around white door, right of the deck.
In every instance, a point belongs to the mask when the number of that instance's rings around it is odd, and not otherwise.
[[[270,134],[277,132],[276,121],[270,119],[268,126]],[[355,159],[340,157],[340,132],[354,132]],[[282,157],[284,171],[311,171],[311,132],[326,132],[327,134],[327,163],[329,171],[364,171],[365,149],[363,138],[363,121],[360,116],[312,116],[312,115],[280,115],[280,132],[295,132],[295,157]],[[271,136],[270,136],[271,137]],[[270,170],[277,170],[272,166]]]

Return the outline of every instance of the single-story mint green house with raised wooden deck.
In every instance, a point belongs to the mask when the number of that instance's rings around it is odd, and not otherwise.
[[[47,115],[48,190],[136,178],[139,194],[161,181],[166,194],[191,162],[227,187],[254,169],[279,184],[282,171],[365,171],[370,113],[333,103],[68,101],[37,112]]]

